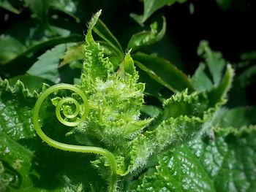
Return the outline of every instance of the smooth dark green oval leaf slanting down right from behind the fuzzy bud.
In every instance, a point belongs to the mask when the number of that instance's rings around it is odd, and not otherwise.
[[[146,55],[144,53],[136,53],[132,55],[140,69],[147,72],[147,74],[161,85],[176,93],[188,88],[193,90],[192,84],[188,77],[178,70],[176,66],[170,64],[163,58],[153,55]]]

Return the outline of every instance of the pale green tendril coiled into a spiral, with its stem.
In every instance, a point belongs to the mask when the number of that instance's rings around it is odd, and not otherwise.
[[[116,190],[116,180],[117,180],[117,174],[116,174],[116,159],[110,151],[105,150],[101,147],[92,147],[92,146],[83,146],[83,145],[69,145],[61,142],[57,142],[56,140],[51,139],[48,137],[41,129],[41,126],[39,125],[39,110],[43,103],[43,101],[50,95],[50,93],[53,93],[55,91],[66,89],[69,91],[74,91],[75,93],[80,96],[80,98],[83,100],[83,114],[80,115],[80,118],[77,118],[75,121],[67,121],[61,116],[64,115],[65,118],[75,118],[80,114],[80,104],[77,100],[73,99],[72,97],[67,97],[64,99],[61,99],[58,104],[56,105],[56,117],[58,120],[64,124],[65,126],[78,126],[80,123],[83,122],[83,120],[86,119],[88,113],[89,113],[89,104],[86,98],[86,95],[81,91],[79,88],[75,87],[74,85],[69,84],[59,84],[59,85],[53,85],[52,87],[48,88],[42,95],[39,96],[39,99],[37,99],[37,102],[34,106],[34,113],[33,113],[33,123],[34,128],[37,131],[37,134],[39,137],[42,138],[45,142],[48,143],[48,145],[51,145],[53,147],[56,147],[60,150],[67,150],[67,151],[73,151],[73,152],[80,152],[80,153],[96,153],[99,155],[105,155],[106,158],[108,158],[108,161],[110,163],[112,174],[110,176],[109,181],[109,187],[108,191],[113,192]],[[66,103],[72,103],[75,105],[75,112],[70,112],[70,107],[67,105],[64,105]]]

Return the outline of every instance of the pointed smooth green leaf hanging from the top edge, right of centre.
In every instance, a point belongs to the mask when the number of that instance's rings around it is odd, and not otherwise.
[[[136,15],[134,13],[130,16],[142,25],[157,9],[164,7],[165,5],[170,6],[175,2],[184,3],[187,0],[143,0],[144,12],[143,15]]]

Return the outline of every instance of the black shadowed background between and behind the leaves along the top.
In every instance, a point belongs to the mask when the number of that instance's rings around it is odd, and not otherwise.
[[[91,14],[102,9],[102,20],[119,40],[125,39],[122,35],[124,31],[127,33],[127,27],[139,28],[138,23],[129,17],[129,13],[140,14],[143,10],[143,3],[138,0],[98,0],[97,2],[87,0],[80,6],[83,6],[80,8],[80,15],[84,20],[83,25],[80,26],[81,29],[86,27],[85,23],[91,18]],[[193,13],[189,11],[189,6],[194,7]],[[256,2],[253,0],[233,0],[227,10],[222,10],[214,0],[187,1],[184,4],[176,3],[159,9],[146,24],[154,20],[157,14],[165,15],[167,35],[175,39],[178,50],[186,55],[186,64],[195,63],[197,66],[195,50],[201,39],[207,39],[212,49],[222,52],[228,61],[237,62],[241,53],[256,49],[255,8]],[[15,15],[5,9],[0,9],[0,11],[0,33],[11,28],[15,23],[30,18],[29,9],[24,9],[20,15]],[[192,68],[195,69],[195,67]]]

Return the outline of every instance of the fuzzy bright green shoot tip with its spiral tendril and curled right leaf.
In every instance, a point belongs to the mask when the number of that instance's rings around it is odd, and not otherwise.
[[[183,91],[167,99],[164,104],[164,111],[156,118],[154,125],[150,125],[153,118],[144,120],[139,118],[139,110],[143,104],[144,86],[137,82],[138,72],[135,70],[130,53],[125,55],[123,63],[115,72],[115,66],[108,61],[108,58],[104,57],[103,49],[99,44],[94,42],[91,30],[97,23],[99,15],[100,12],[92,18],[89,23],[89,31],[86,34],[86,63],[83,66],[80,85],[78,85],[80,89],[65,84],[48,88],[39,96],[34,108],[34,126],[39,136],[53,147],[61,150],[105,155],[109,160],[112,172],[109,191],[115,191],[117,175],[119,177],[131,177],[138,174],[140,170],[145,169],[148,158],[154,157],[156,152],[159,153],[167,147],[178,145],[184,139],[193,138],[193,133],[203,129],[203,123],[223,104],[222,99],[230,88],[233,72],[228,66],[222,82],[220,82],[221,77],[219,77],[217,79],[219,85],[211,91],[190,94],[188,91]],[[80,114],[81,117],[78,120],[75,116],[78,115],[78,110],[81,107],[75,99],[71,97],[53,98],[58,120],[66,126],[75,126],[75,129],[82,133],[86,131],[89,139],[99,139],[102,141],[102,145],[108,147],[108,150],[103,150],[100,147],[62,144],[50,139],[42,132],[38,123],[39,107],[50,93],[61,88],[75,91],[85,105],[82,107],[83,114]],[[88,96],[89,103],[87,103],[84,93]],[[211,98],[213,96],[214,98]],[[187,99],[188,101],[186,101]],[[200,101],[200,106],[191,103],[197,99]],[[56,100],[58,104],[55,103]],[[62,107],[65,103],[70,102],[75,104],[73,111],[67,105]],[[184,102],[184,112],[181,112],[178,107],[182,105],[182,102]],[[193,108],[191,109],[191,107]],[[89,108],[91,111],[87,118]],[[196,114],[192,110],[195,110]],[[61,117],[61,111],[64,117],[71,118],[71,120],[64,120]],[[189,117],[187,113],[190,111],[192,114]],[[87,125],[83,122],[86,122]],[[178,129],[182,126],[184,128]],[[100,161],[95,161],[95,163],[102,164]],[[103,167],[102,169],[104,170]]]

